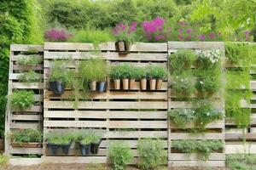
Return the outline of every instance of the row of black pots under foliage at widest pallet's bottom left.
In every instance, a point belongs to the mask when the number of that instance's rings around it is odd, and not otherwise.
[[[102,141],[100,141],[98,144],[95,144],[95,143],[82,144],[79,142],[81,155],[87,156],[90,154],[97,154],[101,142]],[[48,143],[47,146],[49,147],[50,153],[54,156],[57,154],[57,150],[59,148],[62,149],[64,154],[68,155],[71,144],[72,144],[72,142],[70,144],[50,144],[50,143]]]

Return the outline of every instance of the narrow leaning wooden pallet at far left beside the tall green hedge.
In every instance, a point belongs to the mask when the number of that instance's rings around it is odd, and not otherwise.
[[[41,155],[42,148],[16,148],[10,145],[8,134],[13,129],[33,128],[43,129],[43,82],[21,82],[20,74],[26,71],[36,71],[40,73],[40,77],[44,76],[43,63],[40,65],[17,65],[17,59],[31,57],[31,54],[25,54],[30,49],[38,50],[37,57],[43,60],[43,45],[11,45],[9,57],[9,92],[10,96],[15,90],[32,90],[36,105],[23,111],[13,110],[8,105],[6,110],[5,122],[5,150],[11,156],[28,156],[32,154]],[[9,98],[9,97],[8,97]]]

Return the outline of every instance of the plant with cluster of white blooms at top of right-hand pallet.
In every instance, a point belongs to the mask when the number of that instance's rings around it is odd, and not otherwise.
[[[220,64],[220,51],[217,49],[203,50],[195,59],[195,64],[200,69],[211,69]]]

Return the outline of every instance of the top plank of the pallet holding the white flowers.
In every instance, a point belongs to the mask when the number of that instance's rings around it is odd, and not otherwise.
[[[189,49],[224,49],[224,42],[168,42],[168,49],[189,48]]]

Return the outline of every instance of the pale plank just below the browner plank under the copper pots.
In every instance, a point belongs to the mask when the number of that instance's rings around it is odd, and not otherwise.
[[[73,102],[69,101],[45,101],[44,108],[73,108]],[[166,102],[160,101],[141,101],[139,102],[122,102],[122,101],[109,101],[109,102],[79,102],[79,109],[167,109]]]

